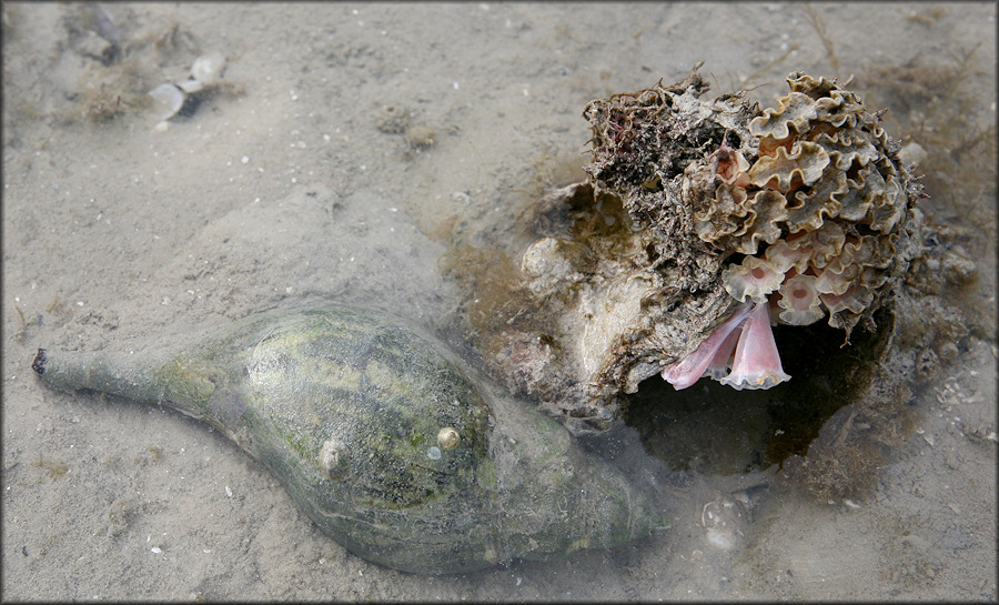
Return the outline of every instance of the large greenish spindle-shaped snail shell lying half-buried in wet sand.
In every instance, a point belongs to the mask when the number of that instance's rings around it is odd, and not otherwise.
[[[487,400],[430,337],[342,306],[272,311],[164,353],[52,353],[48,384],[159,402],[263,462],[351,552],[424,574],[613,547],[667,526],[531,406]]]

